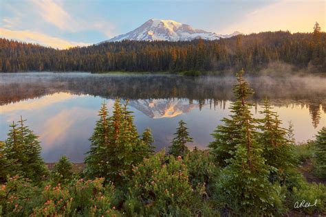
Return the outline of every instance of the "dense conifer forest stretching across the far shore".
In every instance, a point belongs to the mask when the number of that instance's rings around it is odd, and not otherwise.
[[[326,33],[261,32],[217,41],[122,41],[58,50],[0,39],[0,71],[259,71],[270,62],[326,70]]]

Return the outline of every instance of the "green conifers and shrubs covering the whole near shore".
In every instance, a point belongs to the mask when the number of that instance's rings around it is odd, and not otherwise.
[[[4,216],[281,216],[326,214],[326,187],[307,183],[296,170],[307,158],[326,179],[326,127],[297,148],[292,130],[264,100],[262,119],[250,113],[252,94],[237,73],[232,115],[213,132],[208,150],[192,142],[180,121],[168,154],[153,152],[147,128],[138,135],[127,104],[116,100],[98,113],[86,168],[72,173],[62,157],[49,172],[41,146],[22,118],[0,144],[0,214]],[[306,201],[310,203],[303,203]]]

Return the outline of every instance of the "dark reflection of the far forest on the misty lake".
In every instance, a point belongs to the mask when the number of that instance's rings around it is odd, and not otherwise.
[[[194,101],[199,104],[199,109],[204,104],[225,109],[226,100],[233,100],[232,85],[235,83],[232,76],[15,73],[1,74],[0,78],[0,105],[68,92],[107,99],[187,99],[189,104]],[[251,99],[254,104],[269,98],[274,106],[307,106],[315,128],[322,109],[326,113],[326,78],[261,76],[247,79],[255,91]]]

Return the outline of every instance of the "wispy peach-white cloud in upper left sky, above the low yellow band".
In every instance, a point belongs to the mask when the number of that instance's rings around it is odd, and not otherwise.
[[[5,1],[1,7],[4,13],[0,18],[0,27],[8,30],[39,32],[59,38],[67,36],[67,33],[96,31],[111,38],[116,28],[100,14],[83,12],[87,8],[78,9],[78,5],[67,1]]]

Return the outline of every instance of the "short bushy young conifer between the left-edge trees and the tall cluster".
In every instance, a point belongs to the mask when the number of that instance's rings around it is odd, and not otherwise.
[[[52,179],[57,183],[67,183],[72,180],[72,162],[63,155],[61,159],[54,165],[52,170]]]

